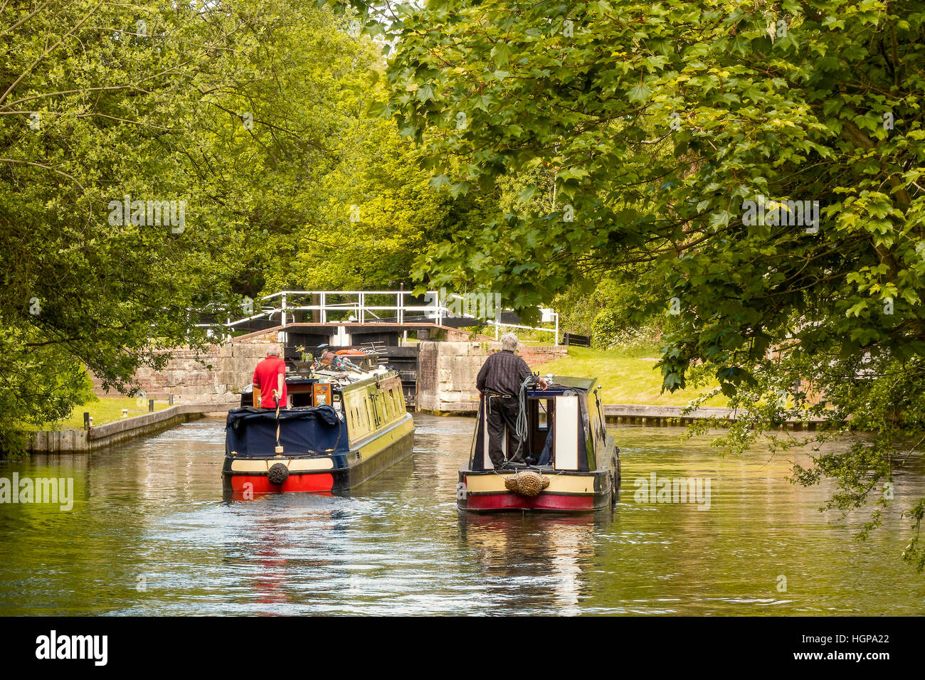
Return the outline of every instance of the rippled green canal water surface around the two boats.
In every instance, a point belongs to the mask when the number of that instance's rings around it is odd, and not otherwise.
[[[925,576],[899,559],[920,467],[858,542],[866,515],[820,513],[827,488],[788,483],[784,458],[620,427],[614,512],[466,516],[456,471],[474,421],[415,420],[413,458],[349,498],[225,501],[218,419],[0,464],[0,477],[73,477],[75,495],[69,512],[0,504],[0,614],[925,613]],[[636,502],[652,473],[709,479],[709,509]]]

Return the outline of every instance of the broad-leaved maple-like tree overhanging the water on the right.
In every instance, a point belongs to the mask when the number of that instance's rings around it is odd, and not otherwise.
[[[388,113],[425,144],[439,182],[464,194],[526,167],[556,177],[553,207],[438,246],[433,276],[490,281],[526,309],[583,266],[648,263],[671,286],[657,305],[671,316],[665,389],[704,362],[727,396],[770,417],[759,405],[779,400],[762,386],[811,378],[833,424],[870,398],[871,415],[900,414],[891,432],[918,439],[918,402],[883,381],[922,391],[923,9],[387,6],[374,30],[395,38]],[[771,365],[773,348],[784,357]],[[795,352],[819,370],[804,375]],[[819,458],[799,479],[835,473],[844,507],[863,502],[897,460],[894,437],[875,434],[837,470]],[[922,504],[912,512],[918,536]]]

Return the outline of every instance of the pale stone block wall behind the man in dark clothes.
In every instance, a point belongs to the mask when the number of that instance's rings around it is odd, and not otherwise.
[[[488,354],[500,343],[421,342],[417,368],[417,410],[429,413],[474,414],[478,410],[475,378]],[[524,345],[519,352],[531,369],[558,359],[568,348]]]

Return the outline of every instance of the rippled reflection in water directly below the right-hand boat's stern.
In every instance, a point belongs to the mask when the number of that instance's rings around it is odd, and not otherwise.
[[[488,600],[516,600],[511,612],[575,615],[587,591],[585,570],[596,557],[597,526],[611,513],[574,517],[524,514],[460,514],[463,544],[478,553]]]

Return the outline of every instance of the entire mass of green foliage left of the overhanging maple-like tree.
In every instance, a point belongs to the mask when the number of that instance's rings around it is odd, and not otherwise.
[[[130,393],[160,350],[203,345],[200,310],[406,279],[423,235],[458,221],[367,117],[382,58],[347,27],[294,0],[4,4],[0,451],[82,402],[86,367]],[[121,223],[126,195],[185,220]]]

